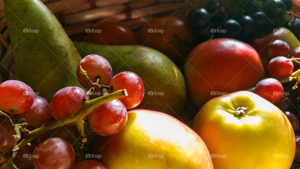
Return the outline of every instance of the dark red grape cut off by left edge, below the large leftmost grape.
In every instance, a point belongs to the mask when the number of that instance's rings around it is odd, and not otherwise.
[[[0,152],[6,153],[12,150],[17,143],[12,135],[15,135],[9,120],[0,115]]]

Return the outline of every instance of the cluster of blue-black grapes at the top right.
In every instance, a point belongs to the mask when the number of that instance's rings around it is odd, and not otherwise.
[[[217,38],[234,38],[248,42],[257,31],[276,28],[279,17],[292,8],[291,0],[268,0],[262,11],[259,9],[262,2],[258,2],[259,5],[252,1],[235,0],[235,3],[240,7],[232,15],[227,13],[227,9],[218,0],[211,0],[205,8],[189,13],[188,24],[200,41],[207,40],[213,34]],[[293,27],[298,28],[299,32],[298,22],[300,20],[296,20]]]

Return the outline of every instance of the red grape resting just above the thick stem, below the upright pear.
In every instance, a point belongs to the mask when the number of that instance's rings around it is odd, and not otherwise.
[[[56,120],[63,119],[73,115],[83,102],[85,91],[80,87],[69,86],[65,87],[53,96],[50,102],[50,109],[53,117]],[[67,125],[74,125],[73,123]]]

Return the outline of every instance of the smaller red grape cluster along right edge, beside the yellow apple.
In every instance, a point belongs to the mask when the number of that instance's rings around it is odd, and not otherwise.
[[[291,54],[290,54],[291,53]],[[290,121],[296,137],[296,152],[294,161],[300,162],[300,90],[295,82],[281,83],[279,80],[290,76],[294,67],[299,69],[295,62],[300,57],[300,47],[290,51],[289,45],[279,39],[267,46],[268,73],[272,78],[263,79],[255,86],[255,93],[275,104]],[[296,69],[296,70],[297,70]]]

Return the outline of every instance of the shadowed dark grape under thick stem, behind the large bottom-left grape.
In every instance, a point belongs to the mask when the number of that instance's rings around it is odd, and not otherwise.
[[[56,120],[49,121],[49,122],[43,124],[42,126],[50,125],[55,121]],[[66,139],[69,142],[73,142],[73,141],[76,140],[75,136],[76,135],[75,135],[74,129],[71,126],[64,125],[64,126],[60,126],[58,128],[55,128],[53,130],[46,131],[45,133],[42,133],[41,135],[39,135],[35,139],[35,141],[36,141],[37,144],[39,144],[39,143],[41,143],[42,141],[45,141],[48,138],[60,137],[60,138]]]

